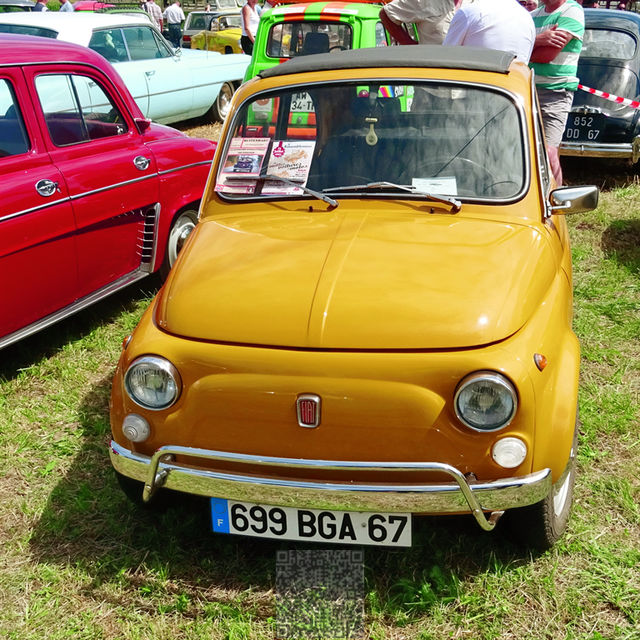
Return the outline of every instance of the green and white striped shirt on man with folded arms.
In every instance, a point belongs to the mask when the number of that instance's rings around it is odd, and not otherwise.
[[[584,36],[584,11],[575,0],[567,0],[554,12],[547,13],[541,4],[531,12],[536,35],[557,25],[558,30],[568,31],[573,38],[567,42],[564,49],[547,63],[530,62],[529,66],[536,74],[536,87],[540,89],[568,89],[576,91],[578,88],[578,58],[582,50]]]

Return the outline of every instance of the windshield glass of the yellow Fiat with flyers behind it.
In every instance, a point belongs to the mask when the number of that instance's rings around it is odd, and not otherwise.
[[[411,187],[504,200],[526,186],[518,108],[489,88],[358,82],[281,90],[245,104],[232,131],[216,186],[229,197],[303,195],[301,187],[397,197]]]

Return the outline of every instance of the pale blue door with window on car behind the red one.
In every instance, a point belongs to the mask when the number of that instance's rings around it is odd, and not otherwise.
[[[156,122],[175,122],[193,115],[193,78],[190,66],[182,55],[173,50],[151,26],[132,26],[122,29],[129,62],[116,63],[125,84],[147,84],[148,118]],[[190,52],[189,52],[190,53]]]

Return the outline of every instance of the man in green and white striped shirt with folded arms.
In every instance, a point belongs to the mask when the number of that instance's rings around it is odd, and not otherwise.
[[[531,12],[536,40],[529,66],[535,71],[551,171],[562,186],[559,147],[578,89],[578,58],[584,36],[584,11],[575,0],[542,0]]]

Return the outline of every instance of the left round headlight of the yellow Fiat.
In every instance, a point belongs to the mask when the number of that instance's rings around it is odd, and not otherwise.
[[[159,356],[134,360],[124,376],[129,397],[145,409],[166,409],[180,395],[182,383],[178,370]]]

